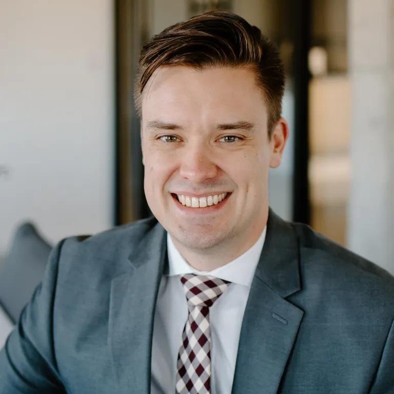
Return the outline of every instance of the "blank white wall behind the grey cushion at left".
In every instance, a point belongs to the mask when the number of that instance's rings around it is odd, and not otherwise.
[[[0,254],[112,224],[111,0],[0,0]],[[8,174],[7,174],[8,172]]]

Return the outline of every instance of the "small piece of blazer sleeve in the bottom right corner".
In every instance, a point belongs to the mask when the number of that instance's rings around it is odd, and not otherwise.
[[[370,394],[394,394],[394,320],[391,323]]]

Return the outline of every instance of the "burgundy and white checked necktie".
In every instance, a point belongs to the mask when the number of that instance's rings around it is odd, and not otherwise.
[[[209,307],[227,290],[230,282],[205,275],[181,277],[189,316],[178,354],[176,394],[210,394],[211,333]]]

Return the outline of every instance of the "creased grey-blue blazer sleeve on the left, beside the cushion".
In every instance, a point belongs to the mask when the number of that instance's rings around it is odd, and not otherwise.
[[[53,304],[63,243],[52,250],[43,281],[0,351],[0,394],[66,392],[53,346]]]

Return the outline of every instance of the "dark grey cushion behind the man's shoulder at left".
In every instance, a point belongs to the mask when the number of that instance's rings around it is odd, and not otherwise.
[[[14,322],[42,280],[50,251],[33,224],[17,228],[0,270],[0,304]]]

